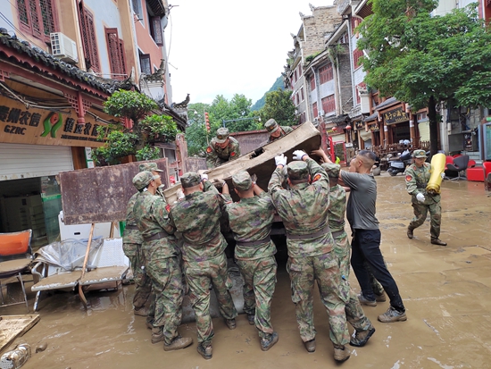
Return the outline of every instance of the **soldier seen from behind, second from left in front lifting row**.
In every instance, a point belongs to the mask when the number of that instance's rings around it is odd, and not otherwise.
[[[220,231],[225,200],[212,183],[205,179],[202,181],[196,172],[184,173],[180,183],[185,197],[171,206],[171,219],[183,238],[181,252],[189,300],[196,314],[197,351],[205,359],[210,359],[214,335],[210,315],[211,284],[221,316],[229,329],[236,328],[237,310],[229,291],[232,281],[225,256],[227,242]]]

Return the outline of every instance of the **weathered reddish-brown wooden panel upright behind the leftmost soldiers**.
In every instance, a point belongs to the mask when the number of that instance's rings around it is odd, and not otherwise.
[[[167,158],[151,160],[169,186]],[[133,177],[144,162],[103,166],[61,172],[63,221],[67,225],[92,222],[124,221],[129,197],[135,194]]]

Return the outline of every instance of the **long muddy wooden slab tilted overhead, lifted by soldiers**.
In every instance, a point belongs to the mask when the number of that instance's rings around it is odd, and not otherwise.
[[[268,189],[268,183],[271,173],[274,172],[276,164],[274,157],[276,155],[287,155],[288,163],[293,159],[295,150],[304,150],[309,154],[313,149],[320,147],[320,131],[317,130],[311,122],[305,122],[286,136],[276,139],[275,141],[264,145],[261,155],[254,156],[254,152],[241,155],[237,160],[225,163],[217,168],[210,169],[205,173],[208,174],[209,180],[226,180],[231,187],[231,177],[240,171],[247,171],[257,175],[257,184],[264,190]],[[176,201],[176,192],[180,184],[172,186],[171,189],[163,191],[164,196],[169,203]],[[230,191],[235,196],[234,191]]]

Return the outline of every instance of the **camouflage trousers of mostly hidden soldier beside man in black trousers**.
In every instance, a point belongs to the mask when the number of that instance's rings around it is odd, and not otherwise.
[[[348,235],[343,232],[334,239],[334,252],[339,259],[339,272],[345,281],[349,281],[350,273],[350,244]],[[379,282],[377,282],[379,283]],[[349,284],[349,282],[348,282]],[[382,287],[382,286],[380,286]],[[383,291],[383,289],[382,289]],[[354,293],[353,289],[349,289],[349,301],[345,306],[346,320],[356,331],[368,331],[371,327],[370,319],[363,313],[360,300]]]

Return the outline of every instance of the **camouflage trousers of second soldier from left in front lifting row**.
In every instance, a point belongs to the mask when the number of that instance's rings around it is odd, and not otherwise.
[[[229,289],[232,281],[227,271],[225,254],[203,262],[184,262],[184,272],[189,286],[189,300],[196,315],[198,343],[207,345],[212,342],[213,323],[210,314],[210,283],[213,284],[218,299],[221,316],[234,319],[236,306]]]

